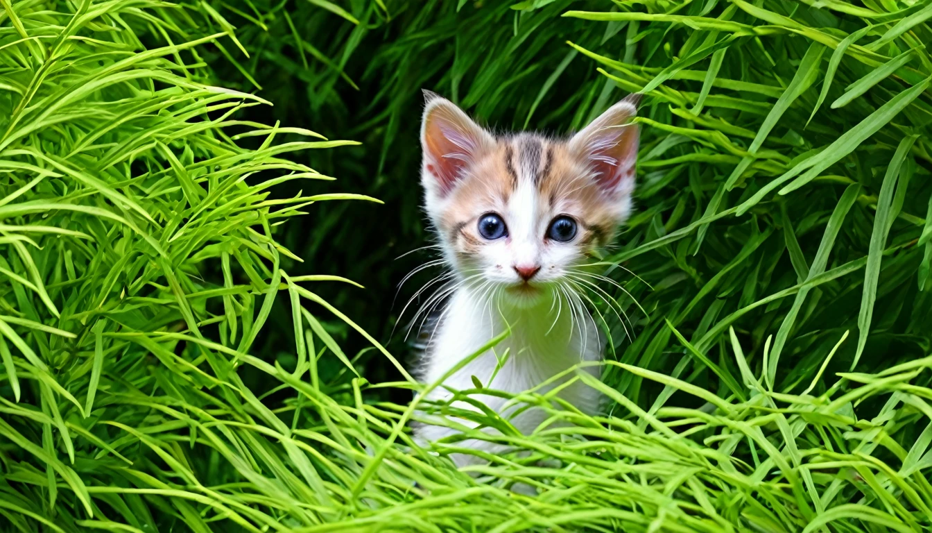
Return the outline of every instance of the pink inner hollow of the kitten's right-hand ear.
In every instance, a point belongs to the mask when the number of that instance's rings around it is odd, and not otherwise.
[[[637,161],[637,125],[610,126],[594,133],[587,146],[596,182],[605,190],[629,189]]]

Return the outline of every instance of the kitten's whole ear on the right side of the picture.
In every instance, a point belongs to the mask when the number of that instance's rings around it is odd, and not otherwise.
[[[596,182],[610,193],[630,194],[634,189],[638,132],[631,120],[639,100],[640,94],[629,94],[569,140],[570,149],[589,161]]]

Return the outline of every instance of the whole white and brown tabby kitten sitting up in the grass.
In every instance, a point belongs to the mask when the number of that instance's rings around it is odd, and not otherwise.
[[[510,336],[446,378],[428,399],[449,400],[450,389],[474,388],[473,378],[517,394],[581,361],[601,360],[604,341],[574,289],[594,278],[576,269],[594,248],[610,243],[631,211],[637,95],[613,105],[582,132],[556,140],[536,133],[494,135],[453,103],[424,92],[424,206],[453,282],[442,313],[421,332],[427,341],[420,379],[434,383],[511,328]],[[593,365],[581,372],[598,377],[600,370]],[[558,394],[583,413],[599,409],[600,395],[579,380]],[[547,418],[541,409],[506,406],[497,396],[472,398],[523,434]],[[463,401],[453,407],[476,410]],[[453,423],[473,427],[461,418]],[[419,442],[454,433],[430,423],[415,428]],[[456,445],[492,454],[507,449],[477,439]],[[467,454],[452,458],[459,466],[482,461]]]

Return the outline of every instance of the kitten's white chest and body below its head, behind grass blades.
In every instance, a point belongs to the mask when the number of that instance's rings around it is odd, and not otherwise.
[[[431,400],[449,400],[453,390],[475,388],[473,377],[482,386],[511,394],[529,389],[545,393],[573,378],[574,372],[542,386],[554,376],[566,373],[584,361],[601,358],[602,341],[596,326],[582,310],[569,311],[567,302],[543,300],[529,308],[503,308],[502,303],[489,301],[478,296],[469,288],[461,288],[451,297],[444,316],[432,333],[432,341],[425,356],[422,380],[432,384],[440,380],[463,358],[467,358],[486,345],[503,331],[511,333],[494,348],[473,358],[466,366],[449,375],[440,386],[432,391]],[[597,366],[579,372],[598,375]],[[600,395],[595,389],[576,380],[561,388],[559,397],[586,414],[594,414],[599,408]],[[518,431],[528,434],[547,418],[541,409],[526,409],[514,415],[519,406],[506,405],[508,400],[498,396],[475,395],[488,408],[508,419]],[[475,409],[472,405],[457,401],[454,406]],[[460,424],[466,424],[458,420]],[[418,429],[418,438],[435,441],[451,435],[454,430],[441,426],[423,426]],[[492,451],[495,445],[469,440],[459,445]],[[454,456],[459,463],[473,462],[466,456]]]

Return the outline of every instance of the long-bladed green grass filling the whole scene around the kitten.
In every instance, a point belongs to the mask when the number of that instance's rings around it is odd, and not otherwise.
[[[0,531],[932,527],[932,7],[489,4],[0,1]],[[646,93],[608,413],[472,472],[387,343],[422,86]]]

